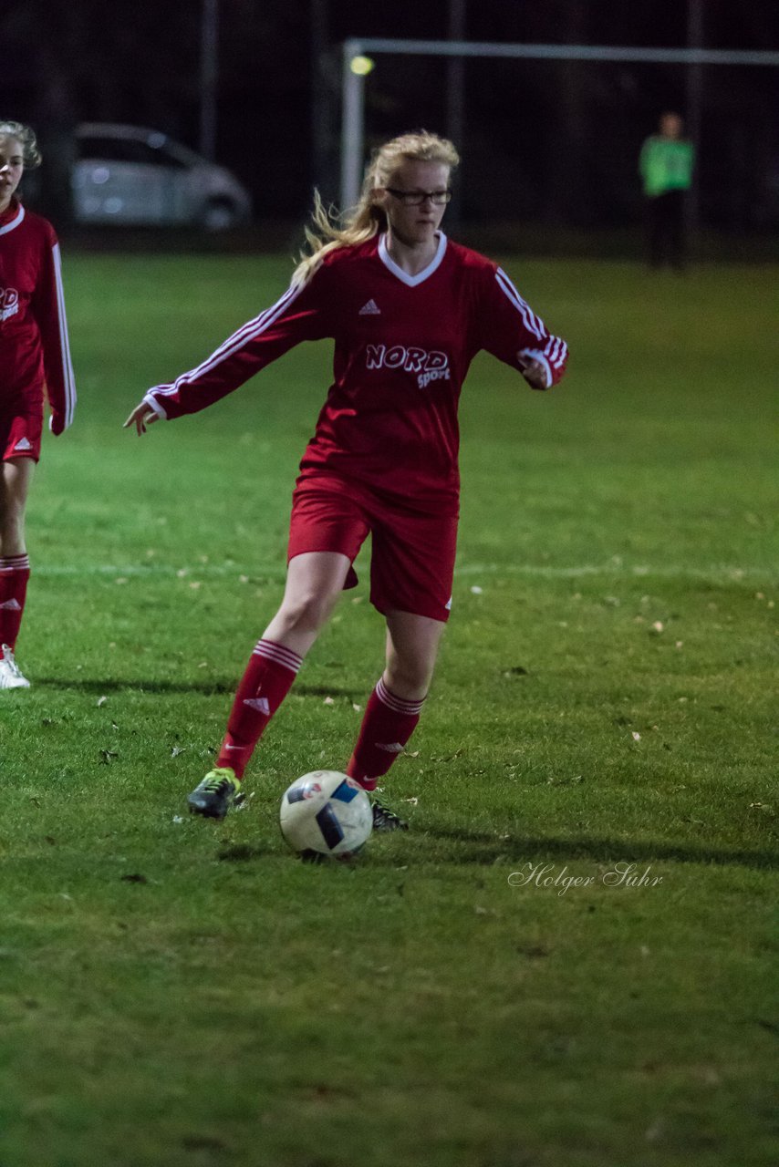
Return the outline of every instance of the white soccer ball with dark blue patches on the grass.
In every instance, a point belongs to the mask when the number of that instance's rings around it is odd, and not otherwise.
[[[338,770],[314,770],[293,782],[281,798],[281,834],[300,854],[348,859],[374,826],[368,795]]]

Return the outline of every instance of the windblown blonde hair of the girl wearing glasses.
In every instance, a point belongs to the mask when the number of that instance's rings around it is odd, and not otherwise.
[[[331,251],[364,243],[377,232],[387,230],[387,214],[376,203],[374,191],[391,183],[392,175],[403,162],[440,162],[453,170],[459,161],[459,154],[451,141],[427,133],[426,130],[392,138],[374,151],[357,205],[343,215],[341,226],[322,203],[319,191],[314,190],[314,209],[311,216],[313,229],[309,226],[305,229],[309,253],[301,257],[292,282],[305,284]]]

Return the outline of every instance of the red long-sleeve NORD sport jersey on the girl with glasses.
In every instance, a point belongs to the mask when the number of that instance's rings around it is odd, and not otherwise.
[[[547,385],[568,348],[551,336],[505,272],[438,238],[432,263],[409,275],[385,237],[329,252],[207,361],[145,397],[161,418],[211,405],[294,344],[335,341],[333,384],[301,474],[334,470],[425,509],[457,506],[458,401],[471,361],[486,349],[513,369],[537,359]]]

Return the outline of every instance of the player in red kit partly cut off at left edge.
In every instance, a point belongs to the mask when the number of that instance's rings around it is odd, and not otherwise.
[[[35,134],[0,120],[0,690],[29,689],[14,657],[29,558],[25,509],[41,456],[43,397],[61,434],[76,405],[60,244],[54,228],[16,197],[25,167],[39,166]]]

